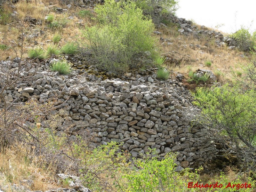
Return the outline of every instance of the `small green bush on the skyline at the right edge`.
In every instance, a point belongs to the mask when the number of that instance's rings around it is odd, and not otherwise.
[[[231,37],[235,39],[236,45],[241,51],[251,51],[256,44],[254,36],[251,36],[249,30],[243,27],[232,34]]]

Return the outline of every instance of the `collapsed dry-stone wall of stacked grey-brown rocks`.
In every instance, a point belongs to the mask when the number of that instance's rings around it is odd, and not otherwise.
[[[17,62],[17,58],[0,61],[0,75],[4,76],[10,66],[17,68]],[[216,146],[210,141],[200,142],[200,129],[190,126],[198,109],[178,80],[159,81],[154,69],[148,69],[148,76],[128,73],[123,80],[102,80],[87,72],[79,75],[80,70],[62,76],[51,72],[49,63],[21,61],[21,65],[24,77],[35,73],[33,80],[9,87],[4,91],[5,101],[11,105],[31,98],[41,103],[56,100],[58,108],[53,112],[60,115],[56,120],[60,123],[58,135],[68,132],[70,139],[76,139],[87,133],[91,148],[110,141],[123,142],[121,149],[132,157],[145,156],[149,147],[155,148],[160,158],[168,152],[178,152],[176,164],[182,167],[214,158]],[[35,127],[29,121],[26,124]],[[44,121],[41,125],[47,127]]]

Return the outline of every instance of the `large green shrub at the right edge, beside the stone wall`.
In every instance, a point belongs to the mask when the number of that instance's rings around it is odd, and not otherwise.
[[[205,94],[207,93],[207,94]],[[212,127],[220,128],[223,134],[235,139],[240,146],[243,142],[249,148],[254,147],[253,139],[256,134],[256,102],[255,91],[246,90],[236,84],[231,87],[228,84],[216,87],[205,92],[203,88],[196,89],[196,102],[202,107],[202,113],[206,119],[204,122],[212,122]],[[238,141],[239,140],[239,141]]]

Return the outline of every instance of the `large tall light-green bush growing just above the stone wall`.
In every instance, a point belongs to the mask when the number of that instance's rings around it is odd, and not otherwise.
[[[145,52],[153,53],[154,24],[146,19],[133,1],[107,0],[97,5],[99,25],[87,28],[84,36],[102,71],[124,71],[136,68]]]

